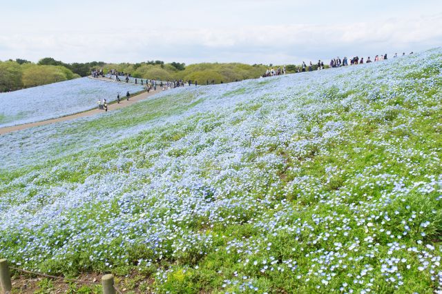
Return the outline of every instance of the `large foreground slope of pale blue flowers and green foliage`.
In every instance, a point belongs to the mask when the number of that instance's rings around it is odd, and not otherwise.
[[[442,48],[0,137],[0,256],[157,293],[442,290]]]

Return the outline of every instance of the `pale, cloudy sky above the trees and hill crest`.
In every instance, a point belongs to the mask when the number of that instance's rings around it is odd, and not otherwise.
[[[442,0],[0,0],[0,60],[289,64],[442,44]]]

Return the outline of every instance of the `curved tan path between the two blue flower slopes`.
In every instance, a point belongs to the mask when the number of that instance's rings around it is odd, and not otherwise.
[[[100,80],[117,83],[116,81],[111,81],[110,79],[100,79]],[[157,87],[157,89],[158,88],[160,88],[160,87]],[[158,89],[156,91],[151,90],[150,92],[142,92],[141,94],[131,96],[131,98],[129,98],[129,101],[126,101],[126,96],[121,97],[122,101],[119,104],[116,101],[112,102],[111,104],[108,104],[108,112],[112,111],[112,110],[117,110],[119,108],[124,108],[126,106],[131,105],[131,104],[134,104],[137,101],[140,101],[140,100],[146,99],[147,97],[155,95],[158,92],[162,92],[162,90]],[[97,115],[97,114],[103,113],[103,112],[104,112],[104,110],[98,109],[98,106],[97,106],[97,108],[94,108],[91,110],[86,110],[84,112],[75,113],[74,115],[66,115],[66,117],[58,117],[57,119],[48,119],[46,121],[37,121],[35,123],[30,123],[30,124],[19,124],[17,126],[8,126],[6,128],[0,128],[0,135],[12,133],[12,132],[17,132],[18,130],[26,130],[27,128],[33,128],[35,126],[45,126],[47,124],[55,124],[59,121],[69,121],[71,119],[77,119],[79,117],[91,117],[93,115]]]

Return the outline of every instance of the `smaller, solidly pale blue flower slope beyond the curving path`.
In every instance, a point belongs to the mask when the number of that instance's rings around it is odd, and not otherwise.
[[[117,93],[124,96],[126,91],[141,90],[142,86],[84,77],[0,93],[0,128],[72,115],[96,107],[98,99],[115,101]]]

